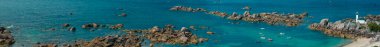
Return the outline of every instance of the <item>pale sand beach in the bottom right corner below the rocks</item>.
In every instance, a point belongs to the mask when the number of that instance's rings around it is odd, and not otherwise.
[[[373,46],[380,46],[380,42],[372,42],[370,43],[371,38],[359,38],[355,41],[353,41],[350,44],[347,44],[343,47],[373,47]]]

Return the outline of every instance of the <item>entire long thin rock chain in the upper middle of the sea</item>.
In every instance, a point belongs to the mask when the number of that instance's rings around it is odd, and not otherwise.
[[[217,15],[229,20],[242,20],[247,22],[266,22],[268,24],[285,24],[287,26],[296,26],[303,21],[303,18],[308,15],[308,13],[302,14],[278,14],[273,13],[259,13],[251,14],[249,11],[245,11],[244,14],[237,14],[233,12],[231,15],[226,12],[220,11],[206,11],[203,8],[192,9],[191,7],[174,6],[170,10],[172,11],[187,11],[187,12],[205,12],[207,14]],[[204,10],[204,11],[202,11]]]

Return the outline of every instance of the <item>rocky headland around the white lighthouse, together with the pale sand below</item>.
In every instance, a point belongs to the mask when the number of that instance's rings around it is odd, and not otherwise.
[[[374,42],[380,42],[380,15],[368,15],[364,17],[364,19],[364,23],[360,23],[358,20],[354,19],[343,19],[335,22],[329,22],[328,19],[322,19],[320,23],[309,25],[309,28],[322,31],[329,36],[348,38],[354,41],[350,44],[344,45],[344,47],[379,45]]]

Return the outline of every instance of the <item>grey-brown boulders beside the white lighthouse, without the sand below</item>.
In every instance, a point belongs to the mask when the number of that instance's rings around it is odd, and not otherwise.
[[[368,18],[367,18],[368,19]],[[378,22],[377,20],[367,20],[367,22]],[[353,19],[344,19],[336,22],[329,22],[328,19],[322,19],[320,23],[309,25],[312,30],[323,31],[330,36],[342,38],[370,38],[376,36],[376,32],[370,30],[366,23],[358,23]]]

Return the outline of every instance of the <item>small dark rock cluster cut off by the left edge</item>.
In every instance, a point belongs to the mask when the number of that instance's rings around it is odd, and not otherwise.
[[[0,47],[8,47],[15,43],[11,32],[5,27],[0,27]]]

